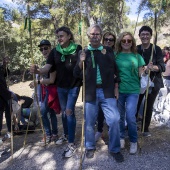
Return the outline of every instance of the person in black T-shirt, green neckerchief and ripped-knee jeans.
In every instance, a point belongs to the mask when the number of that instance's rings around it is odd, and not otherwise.
[[[55,67],[57,77],[57,91],[62,111],[62,123],[64,135],[56,141],[57,145],[67,142],[68,146],[64,150],[63,156],[71,157],[75,151],[74,144],[76,117],[75,104],[79,95],[82,80],[73,76],[73,69],[78,60],[78,53],[82,47],[74,42],[73,33],[68,27],[60,27],[56,30],[58,39],[57,46],[50,52],[47,64],[38,69],[33,65],[30,68],[31,73],[47,73],[52,67]]]

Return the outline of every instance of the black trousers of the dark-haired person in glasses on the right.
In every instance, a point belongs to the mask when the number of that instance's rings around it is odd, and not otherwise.
[[[159,90],[155,91],[153,89],[152,92],[150,94],[148,94],[144,132],[149,131],[149,125],[150,125],[151,118],[152,118],[153,105],[154,105],[154,102],[155,102],[155,99],[156,99],[156,96],[158,95],[158,93],[159,93]],[[136,117],[137,117],[137,114],[138,114],[138,111],[139,111],[139,108],[142,103],[142,99],[143,99],[144,95],[145,95],[145,93],[139,95]],[[145,100],[145,102],[146,102],[146,100]],[[145,108],[145,104],[144,104],[144,108]],[[143,110],[143,112],[144,112],[144,110]],[[143,121],[142,121],[142,127],[143,127]]]

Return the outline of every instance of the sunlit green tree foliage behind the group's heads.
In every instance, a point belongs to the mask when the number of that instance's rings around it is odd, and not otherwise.
[[[164,0],[165,1],[165,0]],[[52,45],[56,45],[55,30],[60,26],[68,26],[72,30],[75,41],[81,43],[79,23],[83,21],[83,44],[88,40],[87,27],[98,23],[104,31],[112,31],[118,35],[123,30],[131,31],[135,23],[131,22],[126,14],[129,8],[125,0],[13,0],[17,5],[0,6],[0,53],[8,54],[11,59],[11,69],[24,71],[29,68],[32,59],[30,48],[32,41],[33,58],[35,63],[40,64],[43,60],[38,50],[38,44],[42,39],[48,39]],[[27,9],[27,4],[30,10]],[[144,22],[153,24],[155,12],[157,13],[159,0],[141,0],[139,12],[149,9]],[[161,10],[159,25],[166,23],[170,13],[169,1],[166,0]],[[29,13],[28,13],[29,12]],[[32,21],[30,35],[24,30],[24,19],[28,17]]]

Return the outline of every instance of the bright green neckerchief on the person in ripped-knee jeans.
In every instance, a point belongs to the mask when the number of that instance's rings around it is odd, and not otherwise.
[[[74,54],[76,52],[77,49],[77,44],[70,42],[70,45],[66,48],[62,48],[60,44],[58,44],[56,46],[56,50],[62,54],[61,56],[61,61],[64,62],[65,61],[65,56],[66,55],[70,55],[70,54]]]

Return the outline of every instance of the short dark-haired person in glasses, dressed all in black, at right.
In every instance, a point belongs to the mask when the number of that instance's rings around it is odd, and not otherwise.
[[[150,78],[154,84],[152,87],[152,91],[148,94],[148,99],[147,99],[147,109],[146,109],[145,126],[144,126],[144,133],[143,133],[144,136],[151,136],[149,132],[149,125],[151,122],[153,105],[160,88],[163,87],[163,80],[161,74],[162,72],[165,71],[162,50],[159,46],[155,44],[153,46],[153,44],[150,43],[151,37],[152,37],[152,29],[149,26],[142,26],[139,30],[139,38],[142,44],[137,46],[137,51],[143,57],[146,63],[145,74],[148,74],[149,70],[151,71]],[[152,61],[150,61],[152,55],[152,48],[153,48],[153,59]],[[144,96],[145,93],[140,94],[139,96],[136,117]]]

